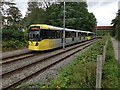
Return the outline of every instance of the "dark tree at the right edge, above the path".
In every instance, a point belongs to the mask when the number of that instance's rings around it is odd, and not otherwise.
[[[115,37],[120,41],[120,10],[118,10],[117,16],[112,20],[112,24],[115,27],[116,34]]]

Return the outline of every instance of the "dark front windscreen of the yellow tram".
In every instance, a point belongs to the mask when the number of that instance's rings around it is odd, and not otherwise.
[[[30,41],[39,41],[40,31],[29,31],[29,40]]]

